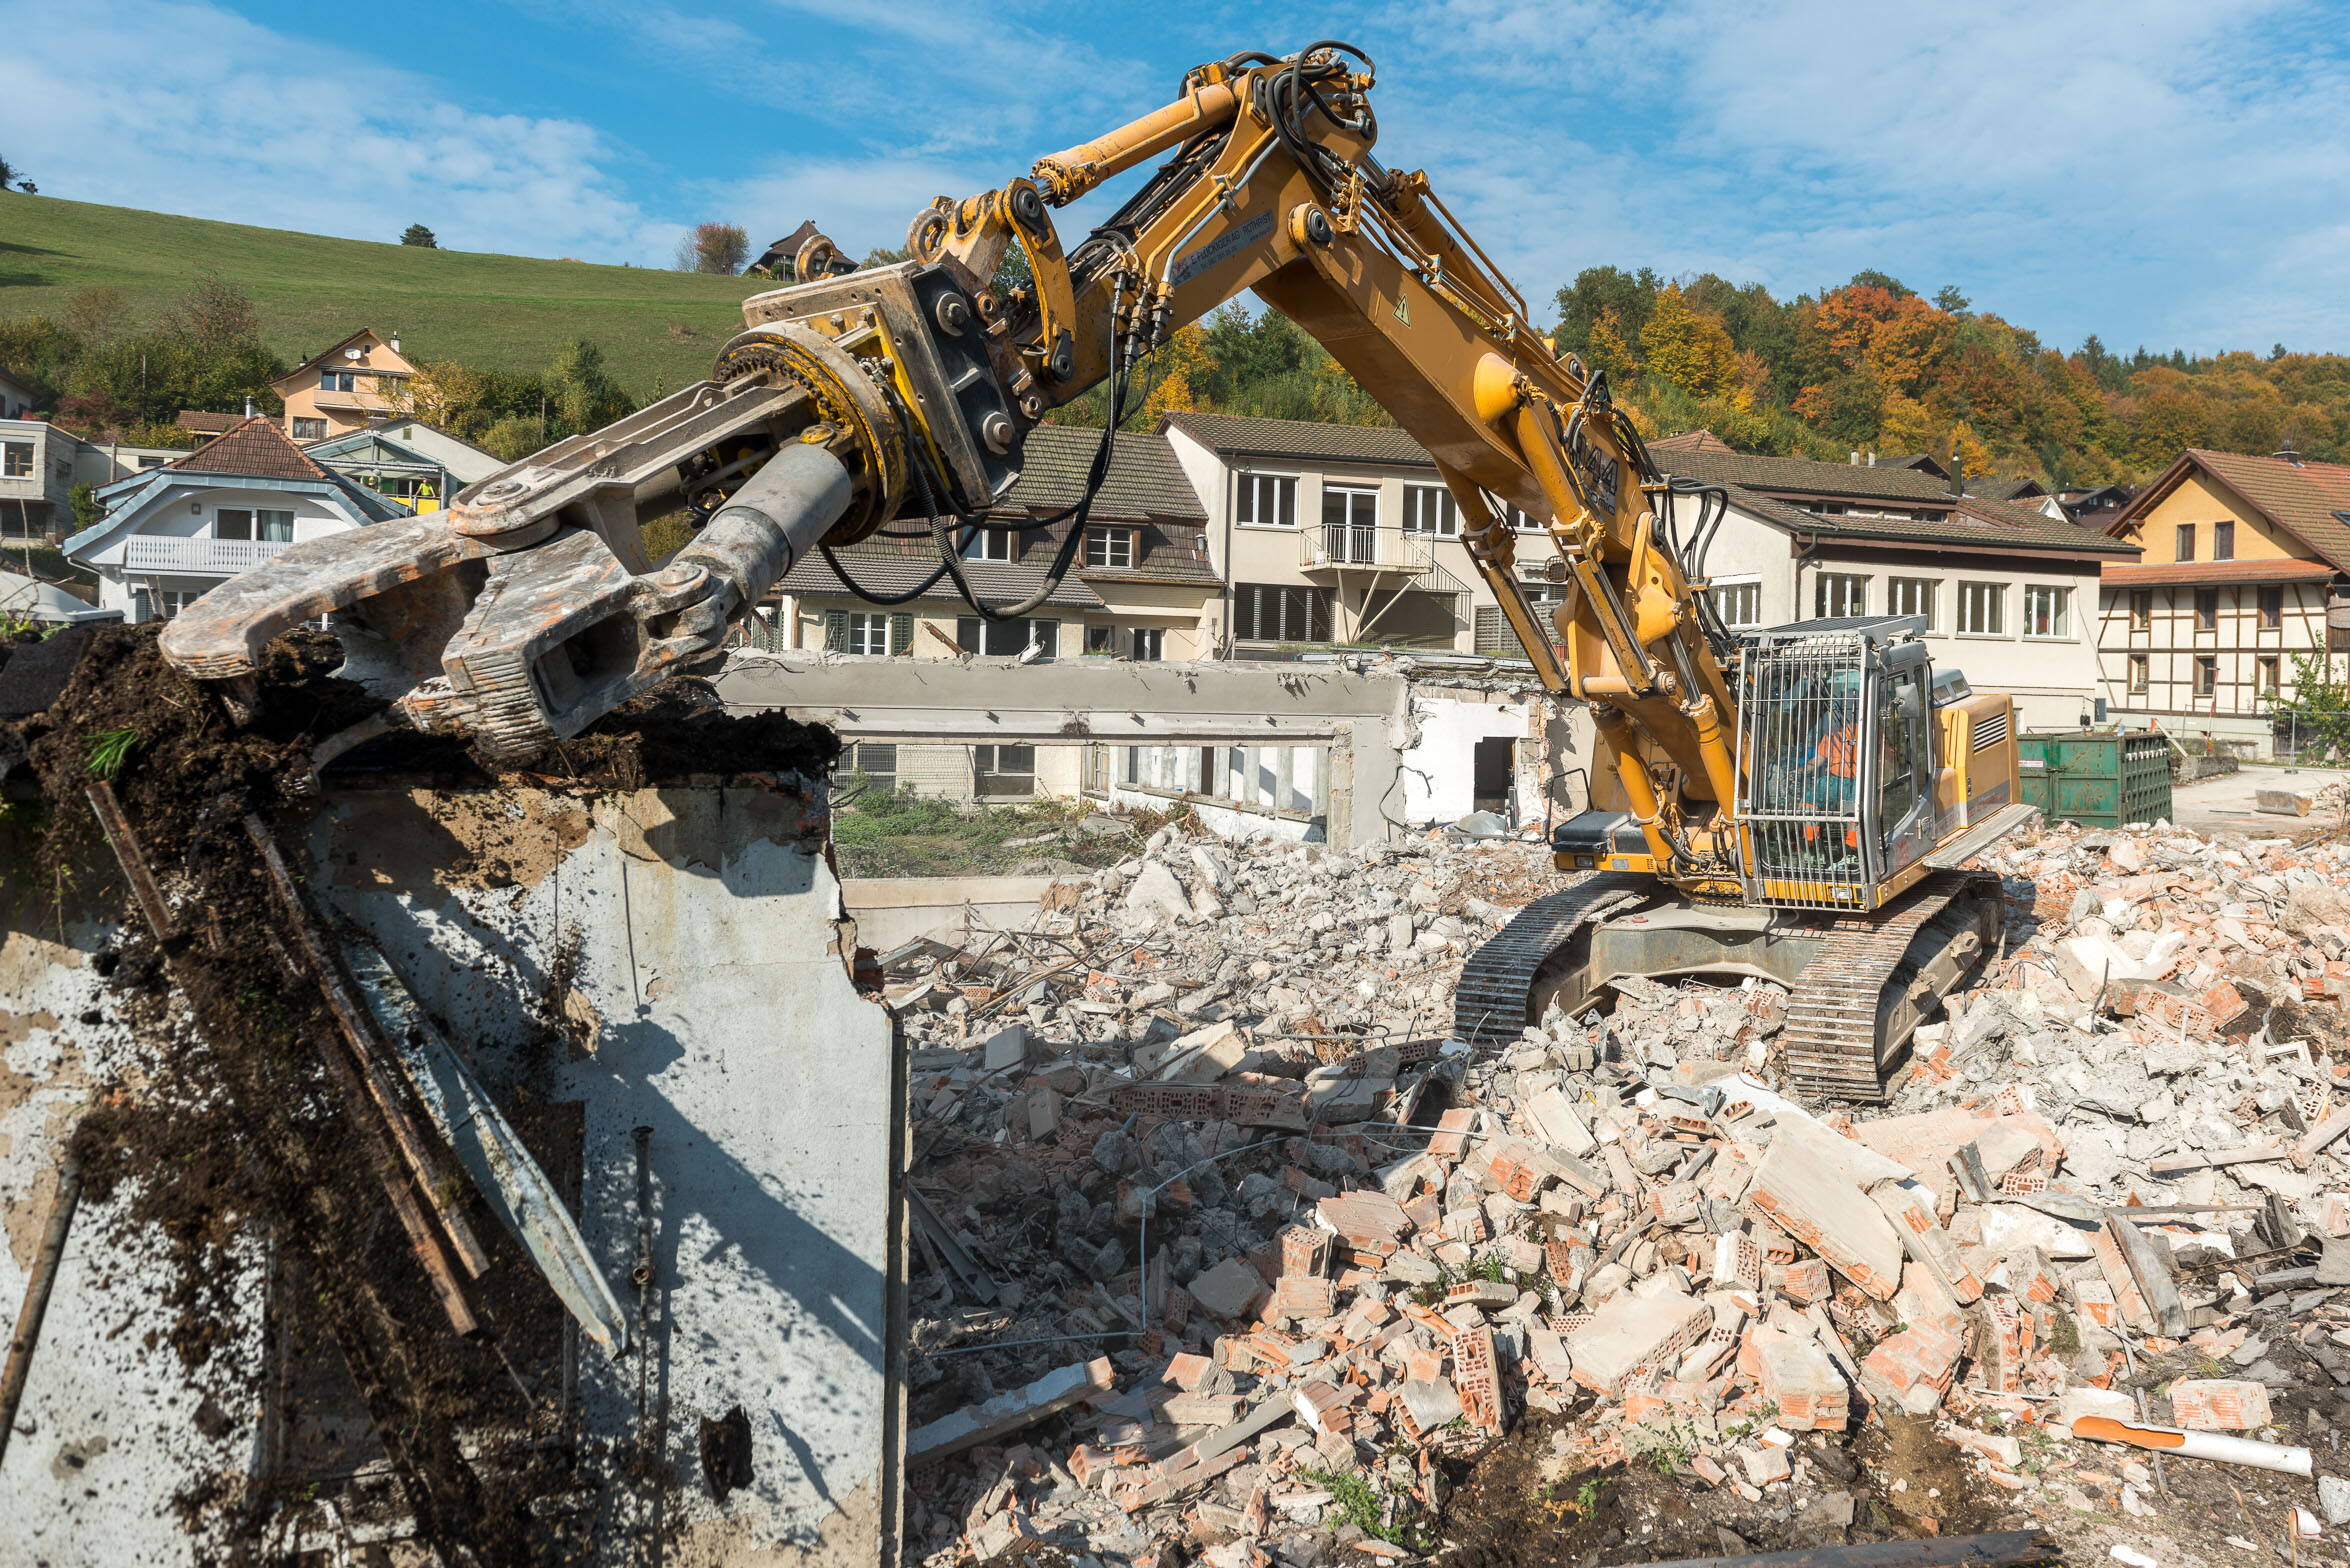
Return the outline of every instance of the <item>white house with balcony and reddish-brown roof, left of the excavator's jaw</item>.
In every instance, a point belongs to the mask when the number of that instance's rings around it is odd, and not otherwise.
[[[409,515],[320,465],[263,416],[162,468],[115,480],[96,501],[106,517],[63,550],[99,574],[99,609],[120,609],[129,621],[169,621],[289,543]]]

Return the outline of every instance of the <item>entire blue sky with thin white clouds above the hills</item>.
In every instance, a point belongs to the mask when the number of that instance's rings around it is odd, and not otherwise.
[[[2066,348],[2350,350],[2343,9],[0,0],[0,153],[49,195],[315,233],[658,266],[698,219],[813,216],[862,252],[1201,59],[1344,38],[1382,158],[1530,299],[1596,263],[1882,268]]]

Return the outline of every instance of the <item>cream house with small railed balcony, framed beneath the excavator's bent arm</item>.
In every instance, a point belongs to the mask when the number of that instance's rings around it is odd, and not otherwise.
[[[1466,654],[1480,609],[1499,625],[1452,491],[1403,430],[1191,411],[1159,430],[1208,512],[1222,590],[1203,637],[1224,656],[1297,644]]]

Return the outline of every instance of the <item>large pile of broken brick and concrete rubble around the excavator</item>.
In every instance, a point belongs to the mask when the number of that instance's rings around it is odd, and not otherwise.
[[[2059,827],[1986,865],[2007,952],[1882,1107],[1772,1088],[1762,980],[1445,1041],[1532,846],[1161,835],[1034,936],[898,954],[912,1547],[1419,1556],[1523,1441],[1553,1523],[1643,1476],[1708,1552],[2023,1521],[2324,1556],[2350,1486],[2258,1467],[2350,1425],[2350,849]],[[1946,1486],[1856,1465],[1871,1432],[1943,1443]]]

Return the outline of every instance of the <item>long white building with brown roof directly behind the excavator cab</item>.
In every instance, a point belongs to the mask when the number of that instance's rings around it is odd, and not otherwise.
[[[1939,470],[1746,456],[1699,435],[1650,454],[1730,498],[1701,562],[1725,625],[1913,614],[1934,663],[2014,696],[2023,729],[2096,717],[2101,569],[2136,559],[2131,543],[1960,494]],[[1676,498],[1673,515],[1687,538],[1697,501]]]

